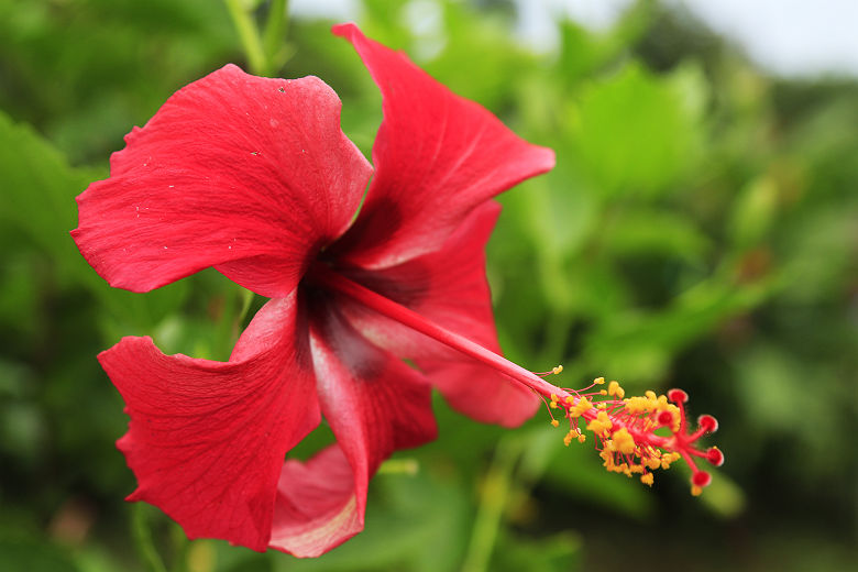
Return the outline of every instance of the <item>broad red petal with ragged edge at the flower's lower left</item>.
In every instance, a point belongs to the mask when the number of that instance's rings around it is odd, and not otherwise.
[[[129,501],[190,538],[268,546],[284,457],[320,420],[309,354],[286,340],[241,362],[164,355],[150,338],[99,355],[131,416],[118,443],[139,483]]]

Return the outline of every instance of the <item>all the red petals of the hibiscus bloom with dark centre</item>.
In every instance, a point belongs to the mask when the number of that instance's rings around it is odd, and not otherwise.
[[[190,537],[305,557],[362,529],[384,459],[435,438],[432,385],[481,421],[535,411],[528,388],[436,340],[499,351],[490,199],[554,163],[404,54],[352,24],[334,33],[382,91],[374,173],[321,80],[228,65],[125,138],[110,178],[78,197],[73,231],[112,286],[146,292],[211,266],[272,298],[228,362],[164,355],[150,338],[99,360],[131,417],[118,443],[139,482],[129,499]],[[322,416],[337,443],[284,462]]]

